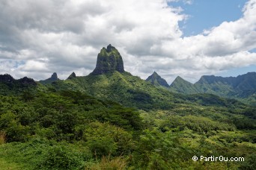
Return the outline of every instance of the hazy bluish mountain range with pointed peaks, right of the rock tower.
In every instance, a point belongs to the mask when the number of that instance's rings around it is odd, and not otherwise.
[[[157,73],[154,72],[153,75],[157,75]],[[246,99],[249,102],[256,101],[256,72],[248,72],[245,75],[228,78],[204,75],[195,84],[178,76],[170,86],[162,84],[165,80],[159,75],[153,75],[150,75],[146,81],[156,86],[165,86],[171,92],[184,94],[210,93],[225,98]]]

